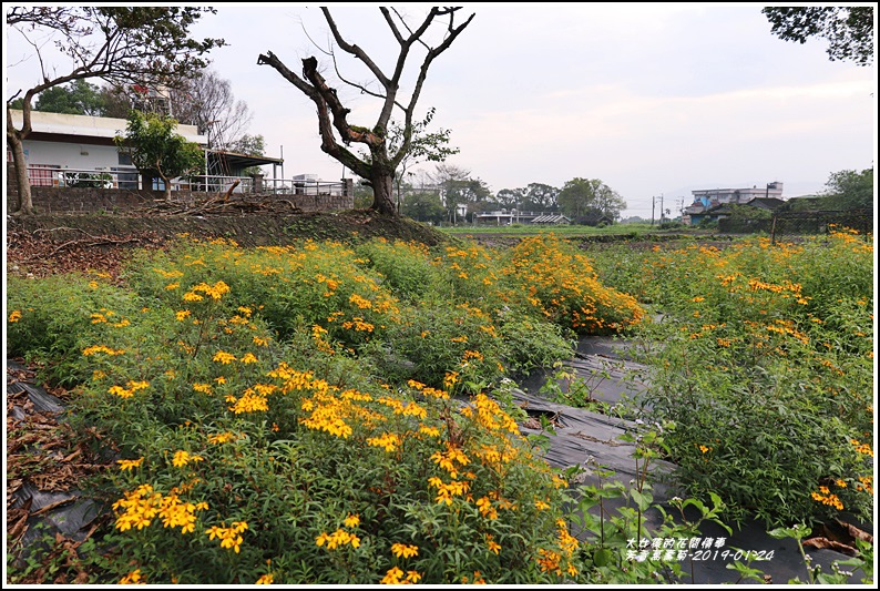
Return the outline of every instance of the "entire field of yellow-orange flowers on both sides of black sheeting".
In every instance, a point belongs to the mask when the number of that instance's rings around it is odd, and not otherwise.
[[[66,387],[75,431],[113,454],[90,487],[111,514],[91,582],[678,577],[626,559],[645,496],[604,523],[572,514],[633,493],[573,496],[576,470],[548,467],[504,396],[589,334],[651,351],[647,411],[675,428],[642,457],[679,467],[681,507],[769,526],[872,511],[872,249],[846,232],[589,255],[552,235],[504,251],[184,236],[122,279],[8,278],[8,356]]]

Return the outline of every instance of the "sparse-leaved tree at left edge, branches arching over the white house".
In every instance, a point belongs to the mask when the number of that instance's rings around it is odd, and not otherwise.
[[[18,186],[16,213],[33,212],[22,141],[31,133],[33,98],[74,80],[102,79],[173,86],[186,74],[204,69],[206,52],[225,44],[223,39],[191,39],[190,27],[213,9],[193,7],[11,7],[7,24],[31,47],[39,63],[39,81],[23,93],[22,119],[17,129],[11,113],[18,90],[7,98],[7,142],[12,151]],[[48,62],[49,41],[66,57],[69,70],[58,72]]]

